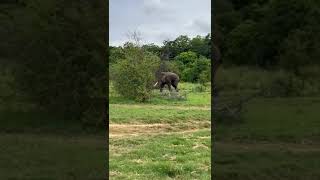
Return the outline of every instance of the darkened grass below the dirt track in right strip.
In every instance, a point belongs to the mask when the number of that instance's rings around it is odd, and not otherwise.
[[[319,146],[217,143],[214,179],[217,180],[318,180]],[[316,151],[317,149],[317,151]]]

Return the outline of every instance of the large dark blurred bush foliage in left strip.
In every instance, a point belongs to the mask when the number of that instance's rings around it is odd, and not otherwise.
[[[17,46],[10,59],[19,65],[17,88],[31,103],[79,120],[91,98],[106,96],[105,7],[102,1],[30,0],[10,12]]]

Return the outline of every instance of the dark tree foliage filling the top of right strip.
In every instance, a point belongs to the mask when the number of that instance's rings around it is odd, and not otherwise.
[[[215,39],[225,62],[280,66],[295,73],[300,66],[318,63],[317,1],[217,0],[216,5]]]

